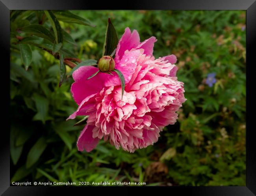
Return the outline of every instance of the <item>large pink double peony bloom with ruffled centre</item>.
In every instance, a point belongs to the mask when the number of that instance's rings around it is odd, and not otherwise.
[[[79,106],[68,119],[89,116],[77,141],[79,151],[93,150],[104,138],[117,149],[134,152],[157,142],[163,127],[176,122],[176,111],[186,101],[184,83],[176,77],[176,56],[154,58],[156,41],[151,37],[140,42],[136,30],[125,29],[115,53],[115,69],[125,78],[122,99],[116,73],[100,72],[87,80],[96,67],[74,71],[71,93]]]

